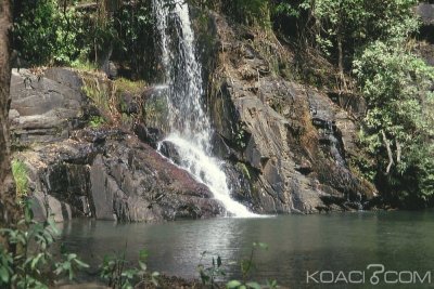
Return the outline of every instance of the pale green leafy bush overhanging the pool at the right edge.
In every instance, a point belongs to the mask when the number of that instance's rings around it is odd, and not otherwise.
[[[369,104],[361,140],[378,159],[375,181],[399,201],[426,202],[434,187],[434,69],[401,43],[376,41],[354,73]]]

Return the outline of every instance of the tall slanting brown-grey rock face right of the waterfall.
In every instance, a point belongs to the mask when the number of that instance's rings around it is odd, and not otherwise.
[[[232,165],[229,174],[239,184],[233,197],[261,213],[360,208],[375,192],[348,169],[357,129],[349,113],[273,71],[255,48],[257,36],[243,38],[245,31],[214,18],[217,63],[208,106],[215,150]],[[278,45],[267,49],[278,54]]]

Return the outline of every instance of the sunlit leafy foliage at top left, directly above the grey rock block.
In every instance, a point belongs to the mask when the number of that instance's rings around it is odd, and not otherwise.
[[[23,0],[13,26],[14,47],[31,65],[68,64],[80,53],[80,13],[55,0]]]

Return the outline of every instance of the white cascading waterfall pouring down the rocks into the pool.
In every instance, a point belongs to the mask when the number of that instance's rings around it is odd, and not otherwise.
[[[163,142],[176,147],[180,156],[179,166],[206,184],[229,214],[255,216],[231,199],[221,162],[212,156],[213,130],[201,103],[202,67],[195,58],[189,6],[183,0],[153,0],[153,13],[168,87],[167,126],[170,134]]]

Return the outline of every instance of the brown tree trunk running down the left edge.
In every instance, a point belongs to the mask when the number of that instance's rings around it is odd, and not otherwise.
[[[11,146],[9,132],[10,106],[10,43],[12,25],[11,1],[0,1],[0,227],[13,225],[17,216],[15,187],[11,171]]]

